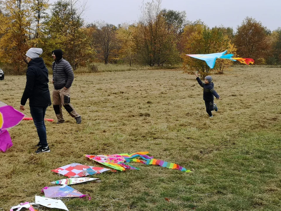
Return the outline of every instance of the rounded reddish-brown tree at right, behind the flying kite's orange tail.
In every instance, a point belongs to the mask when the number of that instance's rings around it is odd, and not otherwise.
[[[268,33],[260,21],[246,17],[237,27],[234,39],[239,57],[252,58],[256,64],[264,64],[270,49]]]

